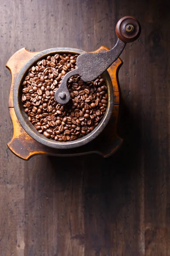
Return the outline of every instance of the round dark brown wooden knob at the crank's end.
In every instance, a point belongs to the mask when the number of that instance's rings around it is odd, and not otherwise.
[[[130,43],[139,38],[141,25],[132,16],[122,17],[116,24],[116,35],[125,43]]]

